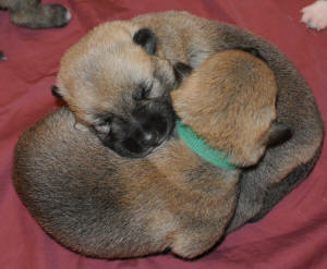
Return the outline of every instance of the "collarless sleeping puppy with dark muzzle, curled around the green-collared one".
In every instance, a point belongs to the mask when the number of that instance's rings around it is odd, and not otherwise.
[[[268,148],[257,166],[242,173],[240,198],[229,232],[265,216],[307,175],[319,155],[324,136],[319,111],[304,78],[281,51],[234,25],[180,11],[148,13],[132,21],[97,26],[64,54],[57,78],[58,94],[82,126],[97,130],[100,139],[123,156],[145,156],[166,139],[165,135],[170,134],[167,129],[173,124],[168,123],[166,110],[162,117],[158,115],[156,106],[144,109],[143,115],[150,115],[155,109],[155,118],[164,124],[152,125],[152,117],[138,123],[141,118],[133,117],[138,107],[133,96],[145,97],[142,102],[160,99],[177,85],[173,73],[178,72],[172,69],[178,62],[195,68],[210,54],[235,47],[255,48],[267,61],[279,88],[277,120],[290,126],[293,136]],[[136,125],[138,138],[116,118]],[[152,127],[143,132],[143,125]],[[146,137],[159,138],[152,147],[143,146]],[[136,154],[133,148],[137,148]]]

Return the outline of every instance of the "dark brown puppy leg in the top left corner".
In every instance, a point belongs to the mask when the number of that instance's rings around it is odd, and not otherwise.
[[[8,7],[11,22],[19,26],[28,28],[61,27],[71,20],[70,11],[60,4],[41,4],[39,0],[21,2]]]

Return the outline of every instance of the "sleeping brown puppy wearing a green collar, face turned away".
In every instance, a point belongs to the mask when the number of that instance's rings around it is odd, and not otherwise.
[[[256,163],[288,133],[275,121],[276,97],[264,61],[218,52],[172,93],[180,121],[149,156],[122,158],[76,130],[61,108],[20,137],[14,186],[41,228],[77,253],[123,258],[171,249],[194,258],[223,236],[239,167]]]

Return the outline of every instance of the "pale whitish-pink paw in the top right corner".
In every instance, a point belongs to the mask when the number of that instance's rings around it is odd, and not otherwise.
[[[327,0],[318,0],[302,9],[301,22],[310,28],[320,30],[327,26]]]

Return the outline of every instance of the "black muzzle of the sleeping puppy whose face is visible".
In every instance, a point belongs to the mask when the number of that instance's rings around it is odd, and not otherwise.
[[[174,119],[168,97],[148,100],[134,108],[129,120],[116,123],[104,144],[122,157],[145,157],[169,138]]]

